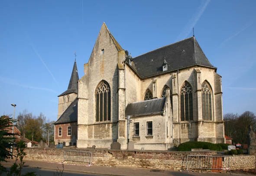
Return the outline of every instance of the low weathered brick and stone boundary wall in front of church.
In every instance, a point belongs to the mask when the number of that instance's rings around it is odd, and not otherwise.
[[[63,150],[57,148],[26,148],[26,160],[62,162]],[[108,167],[142,167],[162,170],[185,170],[187,155],[216,155],[216,151],[123,151],[86,150],[92,152],[91,163]],[[230,170],[256,168],[256,156],[240,155],[230,157]],[[68,162],[71,163],[71,162]],[[72,162],[74,163],[74,162]],[[81,163],[79,163],[81,164]],[[85,165],[87,163],[84,163]]]

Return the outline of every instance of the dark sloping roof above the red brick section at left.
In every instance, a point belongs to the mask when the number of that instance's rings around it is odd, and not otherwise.
[[[63,124],[63,123],[71,123],[78,121],[78,99],[75,99],[69,107],[62,113],[62,115],[58,118],[58,120],[54,123]]]

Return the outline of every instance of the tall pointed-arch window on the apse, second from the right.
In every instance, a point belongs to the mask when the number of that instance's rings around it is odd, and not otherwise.
[[[193,120],[193,91],[188,82],[181,88],[181,121]]]

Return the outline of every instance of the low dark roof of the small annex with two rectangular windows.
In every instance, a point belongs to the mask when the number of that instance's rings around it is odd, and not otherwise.
[[[146,115],[151,113],[162,113],[165,105],[165,98],[130,103],[126,106],[126,116],[128,115]]]

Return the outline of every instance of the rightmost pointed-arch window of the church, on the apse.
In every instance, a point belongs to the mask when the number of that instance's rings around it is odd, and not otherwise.
[[[202,112],[204,120],[212,120],[211,95],[211,86],[206,81],[204,81],[202,84]]]

